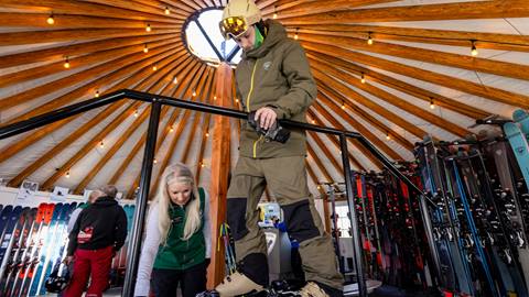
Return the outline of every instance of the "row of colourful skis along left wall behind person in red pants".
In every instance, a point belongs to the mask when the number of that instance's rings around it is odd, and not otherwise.
[[[50,193],[35,191],[21,199],[19,191],[0,187],[0,296],[43,296],[46,278],[66,256],[66,227],[84,198],[68,195],[57,201]],[[131,226],[134,206],[125,204],[123,209]],[[112,278],[110,287],[122,286],[125,250],[116,256],[120,277]]]

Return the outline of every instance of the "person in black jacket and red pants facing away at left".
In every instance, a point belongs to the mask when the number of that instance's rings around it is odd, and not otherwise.
[[[85,208],[69,233],[66,264],[73,262],[72,282],[63,292],[63,297],[79,297],[90,286],[87,297],[102,296],[116,252],[121,249],[127,237],[127,216],[115,197],[115,186],[98,189],[95,202]]]

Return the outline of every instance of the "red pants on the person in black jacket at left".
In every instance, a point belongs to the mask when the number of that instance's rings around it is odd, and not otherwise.
[[[79,250],[74,254],[74,273],[63,293],[64,297],[80,297],[91,273],[91,282],[86,297],[100,297],[108,286],[112,264],[112,246],[99,250]]]

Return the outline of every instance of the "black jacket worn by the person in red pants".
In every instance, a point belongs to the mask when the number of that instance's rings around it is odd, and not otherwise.
[[[99,250],[114,246],[119,251],[127,238],[127,215],[118,201],[99,197],[83,209],[69,233],[68,256],[76,249]]]

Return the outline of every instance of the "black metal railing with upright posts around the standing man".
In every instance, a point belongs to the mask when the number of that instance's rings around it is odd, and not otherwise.
[[[149,197],[149,185],[151,183],[151,173],[152,173],[152,164],[154,160],[154,147],[156,143],[156,134],[158,134],[158,127],[160,121],[160,111],[161,106],[172,106],[176,108],[183,109],[191,109],[195,111],[202,111],[207,113],[214,113],[230,118],[238,118],[238,119],[247,119],[247,113],[234,109],[222,108],[212,105],[198,103],[182,99],[175,99],[172,97],[160,96],[155,94],[142,92],[137,90],[130,89],[121,89],[117,90],[99,98],[94,98],[89,100],[85,100],[78,103],[74,103],[71,106],[66,106],[50,112],[46,112],[41,116],[33,117],[28,120],[22,120],[12,124],[8,124],[0,128],[0,140],[18,135],[20,133],[43,127],[45,124],[50,124],[68,117],[89,111],[96,108],[100,108],[114,102],[117,102],[122,99],[132,99],[132,100],[140,100],[144,102],[151,103],[151,113],[149,119],[149,127],[147,133],[147,142],[143,154],[143,161],[141,164],[141,177],[140,177],[140,190],[137,197],[137,208],[134,212],[134,219],[132,223],[132,233],[130,235],[130,242],[128,248],[128,253],[130,256],[127,258],[127,272],[125,277],[123,290],[121,296],[129,297],[133,295],[134,292],[134,283],[136,283],[136,275],[138,272],[138,264],[139,264],[139,255],[141,252],[141,235],[143,233],[144,228],[144,218],[147,211],[147,201]],[[417,185],[414,185],[408,177],[406,177],[399,169],[380,152],[376,148],[373,143],[370,143],[366,138],[364,138],[358,132],[352,131],[344,131],[337,130],[332,128],[319,127],[302,122],[294,122],[289,120],[280,120],[280,123],[287,128],[298,128],[303,130],[310,130],[320,133],[333,134],[339,138],[341,143],[341,151],[348,152],[347,150],[347,139],[356,139],[364,147],[366,147],[375,157],[377,157],[384,166],[396,177],[401,179],[404,184],[407,184],[410,189],[414,190],[419,195],[420,205],[421,205],[421,215],[423,216],[423,223],[424,229],[427,231],[427,238],[429,241],[429,245],[433,246],[433,233],[432,233],[432,226],[425,220],[428,218],[428,206],[427,202],[435,206],[433,201],[431,201],[427,195],[419,189]],[[364,276],[364,270],[361,264],[361,240],[360,233],[358,230],[358,220],[356,218],[356,205],[355,199],[353,196],[353,184],[350,179],[350,165],[349,160],[346,154],[342,154],[342,164],[344,169],[345,176],[345,186],[347,191],[347,204],[349,208],[349,213],[352,216],[352,229],[353,229],[353,249],[355,253],[355,267],[357,270],[357,277],[358,277],[358,293],[360,297],[367,297],[367,287],[366,287],[366,279]],[[434,252],[434,251],[432,251]],[[439,257],[438,257],[439,258]],[[434,266],[438,276],[441,275],[440,263],[434,257]]]

